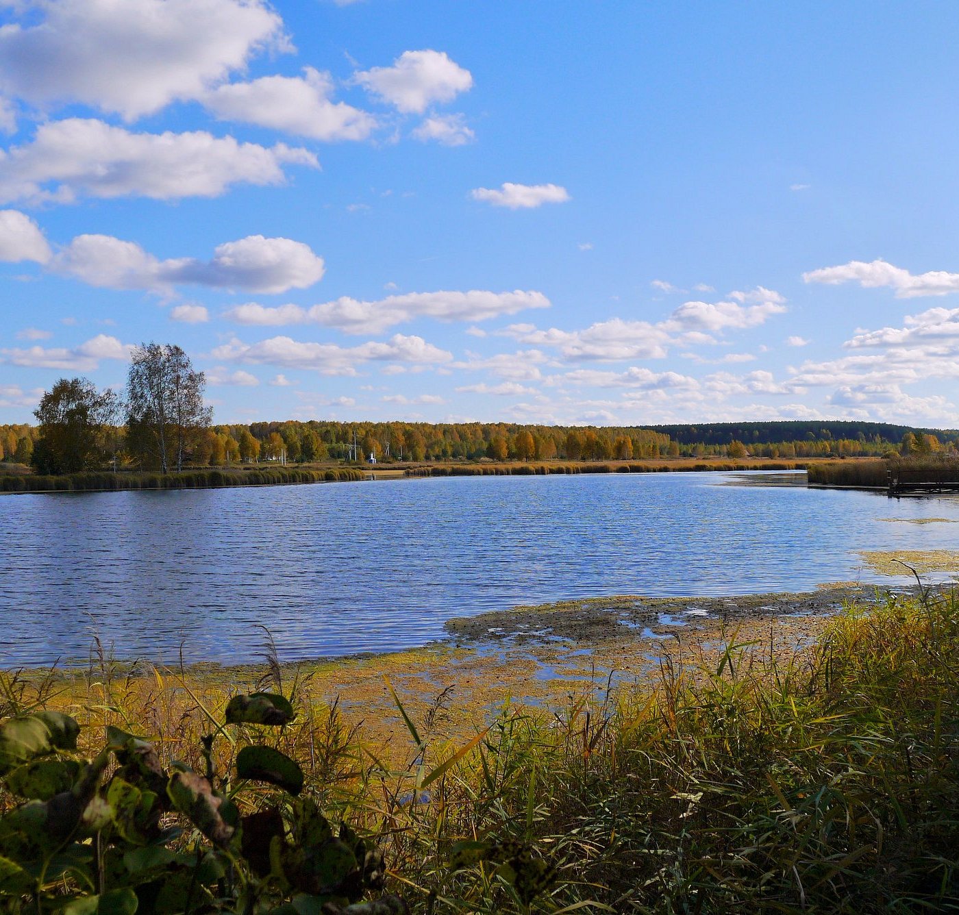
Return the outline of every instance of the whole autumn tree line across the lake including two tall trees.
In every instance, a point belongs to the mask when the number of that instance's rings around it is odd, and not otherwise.
[[[36,426],[0,426],[0,459],[43,474],[132,467],[181,471],[276,461],[634,460],[879,457],[954,452],[959,434],[881,423],[714,423],[564,427],[517,423],[286,420],[213,423],[205,377],[172,344],[133,350],[123,391],[61,378]]]

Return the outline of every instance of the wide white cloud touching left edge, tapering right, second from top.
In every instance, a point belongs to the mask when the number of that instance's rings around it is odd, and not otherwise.
[[[203,130],[134,133],[68,118],[0,151],[0,200],[218,197],[233,184],[282,184],[286,164],[318,167],[313,153],[283,143],[267,148]]]

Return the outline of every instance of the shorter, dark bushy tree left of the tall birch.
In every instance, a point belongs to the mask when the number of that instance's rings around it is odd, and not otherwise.
[[[103,395],[85,378],[61,378],[40,398],[31,461],[43,474],[75,474],[100,459]]]

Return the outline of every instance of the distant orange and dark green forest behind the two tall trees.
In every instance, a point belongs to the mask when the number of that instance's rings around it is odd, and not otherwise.
[[[39,428],[0,426],[0,459],[32,462]],[[104,427],[88,469],[157,469],[123,426]],[[512,423],[344,423],[328,420],[214,424],[190,434],[184,466],[279,461],[631,460],[657,457],[881,457],[954,452],[955,431],[873,422],[702,423],[643,427],[563,427]],[[35,462],[35,461],[34,461]]]

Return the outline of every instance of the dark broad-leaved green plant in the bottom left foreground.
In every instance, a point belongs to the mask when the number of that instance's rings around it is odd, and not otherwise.
[[[285,697],[254,693],[234,697],[227,720],[283,726],[292,717]],[[115,727],[85,760],[79,734],[73,718],[54,712],[0,726],[0,775],[22,799],[0,817],[0,911],[409,911],[396,896],[363,902],[382,889],[382,854],[345,823],[334,833],[312,797],[294,797],[303,772],[279,750],[244,746],[234,782],[215,776],[213,735],[202,741],[200,775],[183,764],[165,769],[149,741]]]

